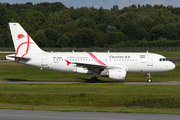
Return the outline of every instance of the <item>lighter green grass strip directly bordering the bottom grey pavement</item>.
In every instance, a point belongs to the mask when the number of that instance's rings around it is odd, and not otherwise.
[[[10,104],[10,103],[0,103],[0,109],[42,110],[42,111],[62,111],[62,112],[80,111],[80,112],[180,114],[180,110],[176,108],[167,109],[167,108],[134,108],[134,107],[57,106],[57,105]]]

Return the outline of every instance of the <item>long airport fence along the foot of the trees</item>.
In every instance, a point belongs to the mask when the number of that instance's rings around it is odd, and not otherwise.
[[[168,52],[168,51],[180,51],[180,46],[177,47],[89,47],[89,48],[77,48],[77,47],[66,47],[66,48],[42,48],[44,51],[53,52]],[[0,47],[0,52],[14,51],[13,47]]]

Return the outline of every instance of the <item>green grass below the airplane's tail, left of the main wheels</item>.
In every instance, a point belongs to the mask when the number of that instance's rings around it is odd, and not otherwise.
[[[60,73],[48,70],[40,70],[26,65],[11,63],[0,63],[0,80],[48,80],[48,81],[85,81],[92,75]],[[107,79],[107,78],[106,78]]]

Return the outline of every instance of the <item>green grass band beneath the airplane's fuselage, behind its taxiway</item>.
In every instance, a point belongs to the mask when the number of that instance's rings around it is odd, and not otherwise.
[[[11,63],[0,63],[0,80],[39,80],[39,81],[89,81],[92,75],[76,73],[60,73],[48,70]],[[97,76],[99,80],[110,81],[109,78]],[[176,63],[176,68],[165,73],[151,74],[153,81],[179,81],[180,63]],[[127,74],[126,81],[146,81],[146,74]],[[113,80],[112,80],[113,81]]]

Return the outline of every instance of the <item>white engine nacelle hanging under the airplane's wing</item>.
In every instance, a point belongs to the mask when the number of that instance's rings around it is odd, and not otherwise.
[[[101,76],[109,77],[110,79],[115,80],[125,80],[126,74],[127,72],[125,69],[109,69],[101,72]]]

